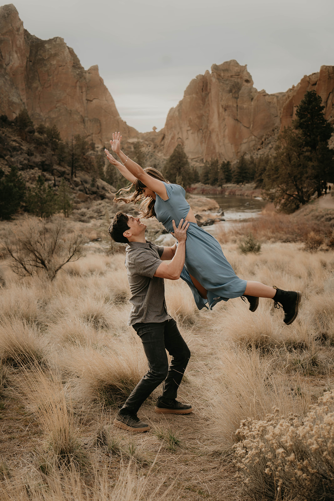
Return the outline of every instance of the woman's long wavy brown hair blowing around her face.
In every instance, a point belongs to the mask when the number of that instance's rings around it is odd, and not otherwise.
[[[164,178],[161,172],[153,167],[146,167],[145,172],[155,179],[159,179],[160,181],[164,181],[168,183],[168,181]],[[133,193],[130,194],[132,188],[135,189]],[[155,217],[154,204],[155,200],[151,196],[145,196],[144,189],[146,188],[145,184],[143,184],[139,179],[136,179],[135,182],[126,186],[125,188],[121,188],[115,193],[114,202],[116,203],[134,203],[141,202],[139,211],[140,216],[144,219],[149,219],[150,217]],[[126,196],[128,195],[128,196]]]

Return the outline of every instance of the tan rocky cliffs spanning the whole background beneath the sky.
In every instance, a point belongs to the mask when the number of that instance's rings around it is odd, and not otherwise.
[[[140,140],[147,164],[158,167],[179,143],[198,166],[270,152],[312,89],[322,98],[326,119],[334,121],[334,66],[321,66],[286,92],[268,94],[254,88],[246,65],[214,64],[190,82],[161,131],[139,133],[121,119],[97,66],[85,70],[60,37],[30,35],[14,5],[0,8],[0,115],[12,120],[26,107],[36,125],[57,125],[64,140],[80,134],[97,146],[108,144],[110,131],[121,130],[124,147],[128,141],[131,151]]]

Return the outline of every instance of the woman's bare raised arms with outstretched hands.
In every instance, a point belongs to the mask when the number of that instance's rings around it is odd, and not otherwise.
[[[122,170],[117,164],[114,163],[117,162],[117,160],[115,160],[114,157],[110,155],[108,150],[105,150],[109,162],[113,165],[116,165],[116,167],[119,169],[121,174],[126,177],[126,179],[131,182],[133,182],[135,179],[139,179],[143,184],[145,184],[145,186],[157,193],[162,199],[166,200],[168,196],[164,183],[159,179],[155,179],[154,177],[147,174],[144,169],[140,165],[138,165],[138,163],[134,162],[133,160],[131,160],[131,158],[123,153],[123,151],[121,150],[121,139],[122,136],[120,132],[113,132],[113,140],[110,141],[110,144],[111,149],[119,156],[122,161],[123,165],[120,164],[122,166]],[[129,174],[125,175],[125,172],[123,171],[124,168],[128,171]],[[132,176],[131,179],[128,176]]]

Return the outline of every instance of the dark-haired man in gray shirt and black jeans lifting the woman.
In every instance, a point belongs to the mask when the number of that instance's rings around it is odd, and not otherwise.
[[[192,412],[191,405],[176,400],[190,351],[175,320],[167,313],[164,286],[164,279],[180,278],[189,223],[181,219],[176,227],[173,221],[173,234],[178,245],[175,242],[172,247],[160,247],[146,241],[146,227],[139,217],[117,212],[108,230],[116,242],[128,243],[125,266],[132,303],[128,325],[132,325],[140,337],[149,366],[149,371],[139,381],[114,420],[115,426],[136,432],[149,430],[149,425],[138,418],[137,412],[162,382],[162,395],[157,400],[155,412]],[[166,350],[172,356],[169,366]]]

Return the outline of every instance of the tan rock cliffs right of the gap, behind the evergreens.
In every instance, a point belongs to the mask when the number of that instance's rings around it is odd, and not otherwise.
[[[159,133],[160,147],[169,156],[181,143],[189,158],[235,160],[262,148],[263,142],[290,125],[296,106],[307,90],[315,88],[334,118],[334,67],[304,77],[287,92],[257,91],[246,66],[236,61],[213,65],[211,73],[190,82],[183,99],[172,108]]]

